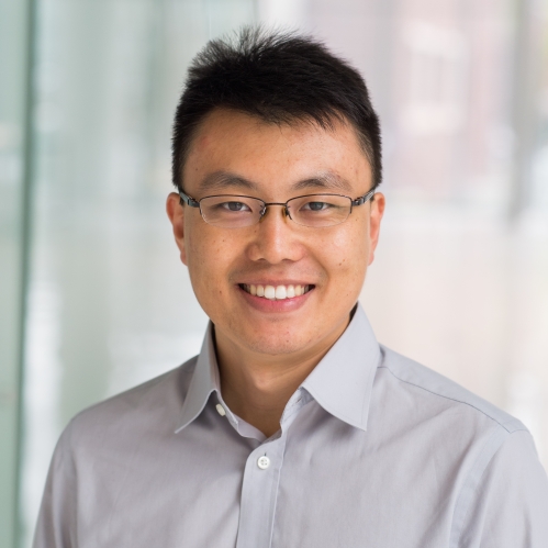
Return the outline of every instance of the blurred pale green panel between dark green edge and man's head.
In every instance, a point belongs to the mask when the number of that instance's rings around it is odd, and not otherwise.
[[[186,69],[253,0],[40,0],[23,521],[80,410],[177,367],[206,317],[165,214]]]

